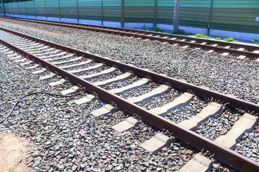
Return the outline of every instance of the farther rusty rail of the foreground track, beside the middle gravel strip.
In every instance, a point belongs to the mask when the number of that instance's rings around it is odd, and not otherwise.
[[[112,60],[112,59],[96,56],[96,55],[93,55],[93,54],[90,54],[90,53],[86,53],[86,52],[83,52],[83,51],[80,51],[80,50],[76,50],[76,49],[71,48],[71,47],[67,47],[67,46],[56,44],[56,43],[53,43],[53,42],[50,42],[50,41],[35,38],[33,36],[29,36],[29,35],[19,33],[19,32],[13,31],[13,30],[1,28],[1,27],[0,27],[0,29],[4,30],[4,31],[7,31],[7,32],[10,32],[10,33],[13,33],[13,34],[16,34],[16,35],[19,35],[19,36],[22,36],[22,37],[25,37],[25,38],[28,38],[28,39],[31,39],[31,40],[34,40],[36,42],[39,42],[39,43],[42,43],[42,44],[45,44],[45,45],[49,45],[51,47],[55,47],[57,49],[61,49],[63,51],[74,53],[78,56],[93,58],[96,61],[104,62],[104,63],[106,63],[110,66],[116,65],[118,68],[120,68],[122,70],[131,70],[139,76],[144,76],[144,77],[148,76],[152,80],[158,81],[160,83],[165,83],[165,84],[168,83],[171,86],[174,86],[174,87],[177,87],[177,88],[180,88],[180,89],[183,89],[183,90],[192,90],[192,91],[195,92],[195,94],[198,94],[198,95],[201,95],[201,96],[206,96],[206,97],[209,97],[209,98],[213,97],[215,99],[220,99],[224,103],[229,103],[229,106],[232,106],[232,107],[241,108],[243,110],[251,110],[251,111],[259,112],[259,105],[255,104],[255,103],[247,102],[245,100],[234,98],[234,97],[228,96],[226,94],[222,94],[222,93],[219,93],[219,92],[216,92],[216,91],[213,91],[213,90],[201,87],[201,86],[189,84],[189,83],[186,83],[186,82],[183,82],[183,81],[180,81],[180,80],[173,79],[171,77],[167,77],[167,76],[164,76],[164,75],[161,75],[161,74],[158,74],[158,73],[154,73],[154,72],[151,72],[151,71],[148,71],[148,70],[141,69],[139,67],[135,67],[135,66],[125,64],[125,63],[122,63],[122,62],[119,62],[119,61],[115,61],[115,60]]]

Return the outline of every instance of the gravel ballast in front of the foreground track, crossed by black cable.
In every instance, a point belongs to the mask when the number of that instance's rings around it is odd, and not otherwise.
[[[0,54],[0,116],[5,116],[20,95],[46,91],[59,93],[66,86],[50,87],[38,75]],[[57,76],[59,78],[59,76]],[[175,140],[158,154],[149,154],[140,144],[160,132],[141,122],[133,131],[116,133],[111,126],[124,120],[126,112],[95,118],[89,113],[106,102],[100,98],[77,106],[76,98],[32,95],[21,101],[7,121],[0,124],[3,133],[16,133],[30,141],[26,166],[37,172],[83,171],[177,171],[197,150]]]

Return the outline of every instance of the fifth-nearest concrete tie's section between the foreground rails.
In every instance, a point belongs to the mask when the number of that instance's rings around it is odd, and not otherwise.
[[[110,89],[108,91],[110,91],[113,94],[122,94],[123,92],[129,91],[130,89],[136,89],[142,86],[146,86],[150,83],[150,80],[148,80],[147,78],[142,78],[139,81],[136,81],[135,83],[132,83],[131,85],[128,86],[123,86],[120,88],[115,88],[115,89]]]

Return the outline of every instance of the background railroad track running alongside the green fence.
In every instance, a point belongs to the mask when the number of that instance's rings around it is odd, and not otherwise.
[[[97,25],[87,25],[87,24],[75,24],[68,22],[54,22],[54,21],[46,21],[46,20],[37,20],[37,19],[21,19],[21,18],[12,18],[12,17],[0,17],[5,19],[17,20],[17,21],[25,21],[25,22],[33,22],[45,25],[53,25],[59,27],[67,27],[74,29],[85,29],[92,30],[97,32],[105,32],[111,34],[118,34],[129,36],[130,38],[135,39],[144,39],[144,40],[158,40],[163,43],[170,43],[174,45],[181,45],[184,48],[193,47],[198,49],[209,50],[208,52],[218,51],[222,52],[222,56],[227,56],[229,54],[239,55],[240,59],[245,57],[251,57],[255,60],[259,61],[259,47],[253,45],[244,45],[233,42],[225,42],[218,40],[209,40],[203,38],[195,38],[181,35],[174,35],[168,33],[160,33],[160,32],[152,32],[145,30],[137,30],[137,29],[125,29],[125,28],[114,28],[107,26],[97,26]]]

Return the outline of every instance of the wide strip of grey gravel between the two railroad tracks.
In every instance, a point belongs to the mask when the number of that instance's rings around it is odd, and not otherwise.
[[[0,26],[7,29],[148,68],[198,86],[208,86],[221,93],[233,94],[254,103],[259,102],[259,63],[251,58],[237,59],[235,55],[225,57],[218,52],[183,49],[158,41],[134,40],[102,32],[9,19],[1,19],[1,22],[3,24]],[[20,28],[17,28],[18,26]],[[28,26],[33,30],[28,29]]]

